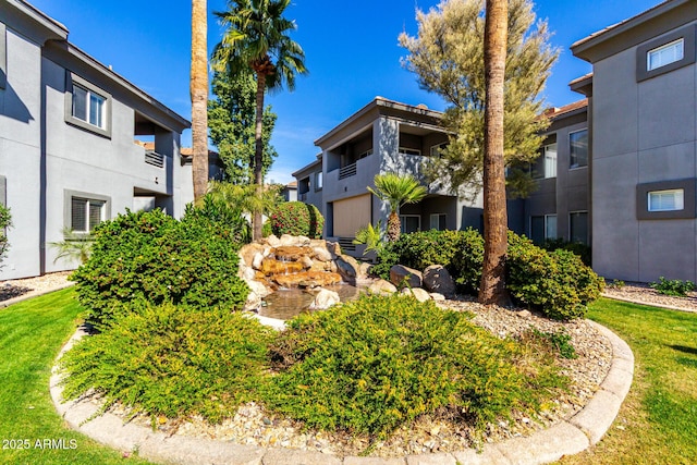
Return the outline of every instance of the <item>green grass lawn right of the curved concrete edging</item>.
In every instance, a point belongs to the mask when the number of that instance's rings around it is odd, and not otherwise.
[[[697,463],[697,314],[600,299],[588,316],[629,344],[634,382],[602,441],[561,463]]]

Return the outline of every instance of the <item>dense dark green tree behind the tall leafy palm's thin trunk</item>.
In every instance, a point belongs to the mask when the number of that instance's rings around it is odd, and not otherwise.
[[[231,75],[216,71],[212,78],[215,98],[208,102],[210,139],[225,163],[227,181],[233,184],[254,182],[256,79],[252,72]],[[262,173],[266,175],[278,156],[271,146],[276,124],[271,106],[264,109]]]

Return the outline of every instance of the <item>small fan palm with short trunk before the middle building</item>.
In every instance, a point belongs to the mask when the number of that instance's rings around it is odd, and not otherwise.
[[[388,241],[395,242],[400,238],[400,207],[405,204],[416,204],[427,194],[426,187],[419,184],[411,174],[399,175],[395,173],[376,174],[372,182],[375,189],[368,187],[382,201],[390,204],[390,217],[388,218]]]

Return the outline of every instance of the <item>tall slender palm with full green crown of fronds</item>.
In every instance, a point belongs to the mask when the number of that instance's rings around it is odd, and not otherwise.
[[[266,89],[295,88],[295,74],[305,74],[305,53],[289,33],[295,23],[283,17],[291,0],[232,0],[229,11],[216,13],[228,30],[216,49],[219,69],[235,73],[252,69],[257,77],[255,152],[250,162],[253,184],[264,189],[264,140],[261,138]],[[253,215],[253,237],[261,237],[261,211]]]

